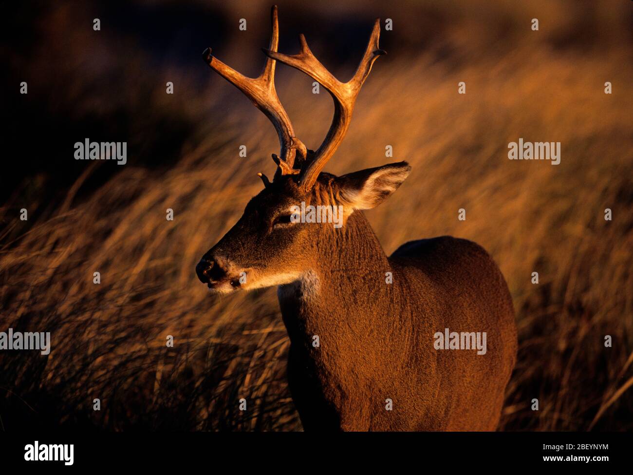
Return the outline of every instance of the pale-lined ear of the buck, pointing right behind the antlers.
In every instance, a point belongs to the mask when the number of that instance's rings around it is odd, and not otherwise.
[[[355,210],[378,206],[398,189],[410,172],[408,163],[398,162],[342,175],[337,179],[342,201]]]

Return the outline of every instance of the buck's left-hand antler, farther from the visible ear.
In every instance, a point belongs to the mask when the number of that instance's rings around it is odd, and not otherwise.
[[[279,23],[277,22],[276,5],[273,6],[270,16],[272,20],[272,35],[268,51],[276,52],[279,44]],[[281,146],[280,157],[273,154],[273,160],[279,166],[282,175],[298,174],[299,170],[293,168],[294,158],[296,151],[299,151],[302,159],[305,158],[307,153],[306,146],[294,136],[290,119],[277,97],[274,58],[266,58],[264,69],[259,77],[256,78],[246,77],[230,66],[225,65],[211,54],[210,47],[204,50],[203,59],[215,72],[244,92],[251,99],[254,106],[270,119],[275,126],[275,130],[277,130]]]

